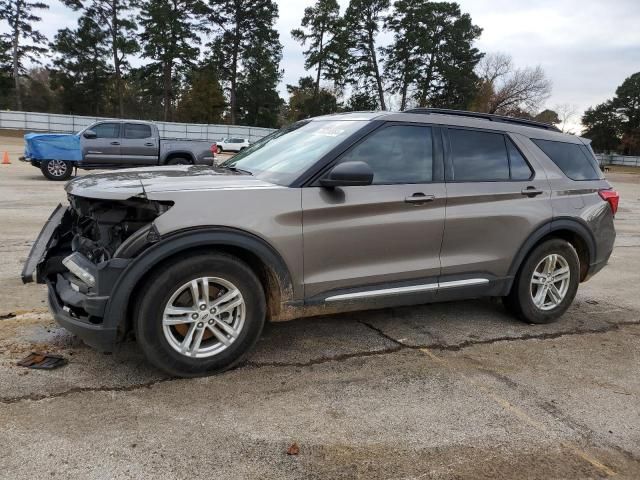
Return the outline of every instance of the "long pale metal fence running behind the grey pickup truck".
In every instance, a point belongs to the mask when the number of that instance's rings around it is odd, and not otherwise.
[[[25,130],[27,132],[75,133],[104,117],[83,117],[52,113],[10,112],[0,110],[0,130]],[[154,122],[165,138],[192,138],[220,140],[227,137],[248,138],[250,142],[268,135],[273,130],[237,125],[206,125],[200,123]]]

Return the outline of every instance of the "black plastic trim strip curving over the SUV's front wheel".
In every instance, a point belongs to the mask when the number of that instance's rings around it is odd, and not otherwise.
[[[143,276],[158,263],[185,250],[216,245],[239,247],[255,254],[275,273],[283,297],[290,296],[293,292],[291,273],[286,263],[280,254],[263,239],[243,230],[226,227],[181,230],[166,235],[127,265],[109,296],[103,317],[105,327],[119,327],[120,332],[124,333],[122,327],[127,318],[131,294]]]

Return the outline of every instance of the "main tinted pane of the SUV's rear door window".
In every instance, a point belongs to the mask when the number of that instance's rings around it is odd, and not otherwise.
[[[504,135],[450,128],[449,139],[454,181],[509,180],[509,157]]]

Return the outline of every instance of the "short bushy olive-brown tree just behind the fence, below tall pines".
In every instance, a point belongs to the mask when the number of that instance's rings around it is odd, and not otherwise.
[[[189,72],[176,116],[180,122],[220,123],[226,106],[216,69],[202,65]]]

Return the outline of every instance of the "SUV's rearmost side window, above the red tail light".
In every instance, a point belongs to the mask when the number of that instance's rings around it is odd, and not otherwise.
[[[595,158],[583,145],[531,139],[571,180],[599,180],[602,177]]]

